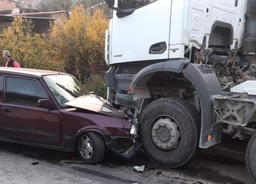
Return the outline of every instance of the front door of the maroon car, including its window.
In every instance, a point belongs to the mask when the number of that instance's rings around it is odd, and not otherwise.
[[[38,79],[6,76],[3,109],[5,137],[37,143],[60,144],[59,111],[38,107],[38,99],[49,99]]]

